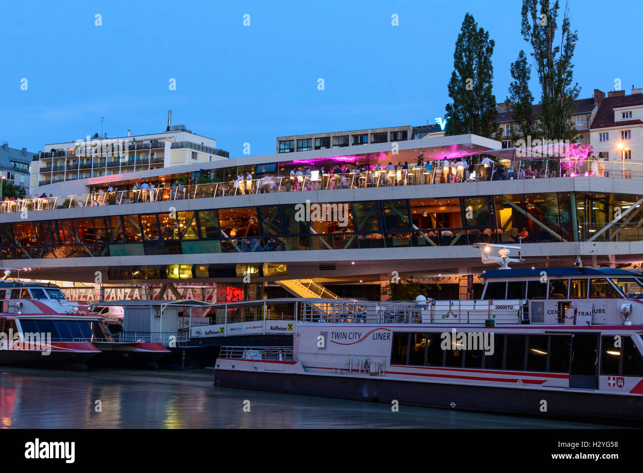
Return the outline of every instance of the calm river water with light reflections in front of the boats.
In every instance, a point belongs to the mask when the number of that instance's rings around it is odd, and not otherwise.
[[[0,367],[0,427],[33,429],[583,428],[589,423],[213,386],[213,373]],[[249,412],[244,412],[248,405]],[[100,412],[96,409],[100,407]]]

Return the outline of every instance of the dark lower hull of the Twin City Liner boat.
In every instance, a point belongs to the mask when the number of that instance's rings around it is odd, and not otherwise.
[[[484,385],[413,382],[380,377],[266,373],[215,369],[215,386],[307,394],[463,411],[574,418],[613,423],[643,421],[643,396],[593,390],[543,390]],[[543,409],[546,402],[546,411]],[[597,409],[597,406],[600,406]]]

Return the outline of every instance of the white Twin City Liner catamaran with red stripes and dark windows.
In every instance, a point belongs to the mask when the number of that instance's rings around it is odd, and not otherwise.
[[[293,346],[221,349],[215,385],[534,416],[643,420],[643,277],[482,274],[480,300],[302,304]],[[364,315],[366,314],[366,315]]]

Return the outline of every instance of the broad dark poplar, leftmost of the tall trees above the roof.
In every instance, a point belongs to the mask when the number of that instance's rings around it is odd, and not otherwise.
[[[489,32],[478,28],[473,15],[464,15],[453,52],[453,72],[448,85],[453,102],[445,107],[444,134],[473,133],[494,139],[502,134],[496,124],[498,110],[492,93],[494,45]]]

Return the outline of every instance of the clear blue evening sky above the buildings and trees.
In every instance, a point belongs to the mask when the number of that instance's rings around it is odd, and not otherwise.
[[[287,134],[435,123],[466,12],[496,42],[494,93],[504,100],[509,64],[528,51],[520,8],[520,0],[5,3],[0,142],[44,151],[100,133],[100,116],[107,136],[158,133],[168,109],[172,124],[216,138],[233,157],[245,142],[253,155],[274,153],[276,136]],[[643,87],[642,10],[640,1],[570,0],[581,97],[617,78],[623,89]],[[539,97],[536,82],[532,93]]]

